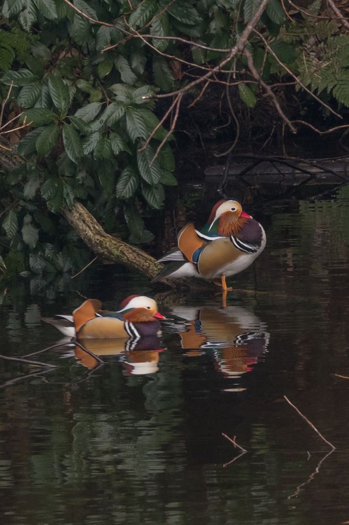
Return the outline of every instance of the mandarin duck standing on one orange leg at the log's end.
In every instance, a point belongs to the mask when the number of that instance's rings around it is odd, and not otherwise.
[[[264,250],[263,227],[233,199],[217,202],[206,225],[198,232],[188,223],[178,234],[178,248],[158,262],[169,263],[151,281],[179,277],[221,278],[247,268]],[[220,283],[216,283],[220,284]]]

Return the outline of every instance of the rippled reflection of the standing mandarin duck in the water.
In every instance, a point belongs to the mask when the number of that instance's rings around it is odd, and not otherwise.
[[[195,357],[212,350],[216,369],[227,378],[250,372],[269,343],[266,324],[242,307],[171,307],[170,316],[178,318],[173,331],[177,327],[181,346],[188,350],[184,355]]]

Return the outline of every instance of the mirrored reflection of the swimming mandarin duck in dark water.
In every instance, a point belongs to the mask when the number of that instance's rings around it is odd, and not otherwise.
[[[83,339],[81,344],[98,356],[119,355],[125,367],[125,375],[154,374],[157,372],[159,353],[166,350],[161,339],[149,335],[139,340],[135,339]],[[98,361],[84,352],[80,346],[75,346],[75,359],[92,370]]]

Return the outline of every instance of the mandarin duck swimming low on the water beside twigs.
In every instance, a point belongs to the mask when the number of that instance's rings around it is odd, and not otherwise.
[[[73,311],[72,316],[42,320],[53,324],[64,335],[79,339],[139,339],[161,335],[159,319],[165,317],[157,311],[154,299],[133,295],[124,299],[115,312],[103,312],[101,308],[101,301],[88,299]]]

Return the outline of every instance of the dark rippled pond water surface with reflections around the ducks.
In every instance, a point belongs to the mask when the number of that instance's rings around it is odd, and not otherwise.
[[[349,522],[349,379],[335,375],[349,376],[349,191],[253,213],[267,247],[225,310],[162,294],[181,319],[166,350],[104,349],[96,371],[72,346],[32,358],[51,371],[0,360],[2,525]],[[1,353],[57,342],[40,317],[71,313],[74,290],[115,307],[156,293],[116,265],[18,278],[0,299]]]

